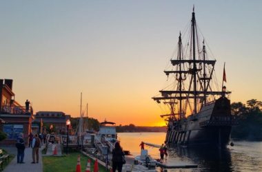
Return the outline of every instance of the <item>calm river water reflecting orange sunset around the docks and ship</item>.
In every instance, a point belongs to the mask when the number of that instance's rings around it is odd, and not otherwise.
[[[140,154],[141,141],[162,144],[165,133],[118,133],[121,147],[135,156]],[[145,147],[153,158],[159,158],[157,148]],[[168,169],[168,171],[262,171],[262,142],[234,141],[227,149],[170,148],[166,164],[196,164],[195,169]],[[160,171],[160,169],[159,169]]]

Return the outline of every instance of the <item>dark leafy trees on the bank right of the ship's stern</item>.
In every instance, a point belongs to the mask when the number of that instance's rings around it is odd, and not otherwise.
[[[231,136],[237,140],[262,140],[262,102],[248,100],[246,104],[232,103],[232,115],[238,124],[232,127]]]

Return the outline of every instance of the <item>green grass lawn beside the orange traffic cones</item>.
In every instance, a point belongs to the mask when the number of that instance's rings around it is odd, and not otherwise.
[[[43,172],[53,172],[53,171],[68,171],[68,172],[75,172],[77,167],[77,157],[78,155],[81,156],[81,171],[85,171],[85,167],[88,161],[88,157],[75,152],[70,153],[66,156],[43,156]],[[91,160],[91,171],[94,167],[94,161]],[[106,171],[104,166],[99,164],[99,172]]]

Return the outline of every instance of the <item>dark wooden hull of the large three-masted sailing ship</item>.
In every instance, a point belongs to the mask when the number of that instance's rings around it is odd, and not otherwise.
[[[221,97],[186,120],[170,121],[165,142],[185,147],[225,147],[233,124],[230,111],[230,100]]]

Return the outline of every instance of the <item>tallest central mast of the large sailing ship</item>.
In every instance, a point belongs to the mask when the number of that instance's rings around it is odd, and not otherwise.
[[[196,45],[195,45],[195,26],[196,26],[196,19],[194,17],[194,8],[192,12],[192,36],[193,36],[193,83],[194,83],[194,114],[196,114]]]

